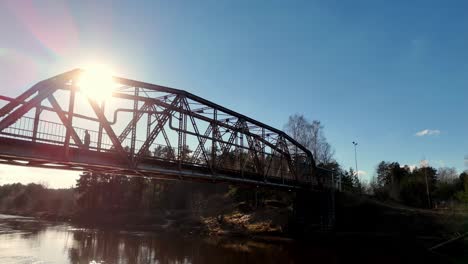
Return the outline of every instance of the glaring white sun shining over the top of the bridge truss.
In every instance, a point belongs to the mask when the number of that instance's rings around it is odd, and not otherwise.
[[[78,77],[77,86],[88,98],[103,102],[112,97],[116,83],[109,67],[94,64],[83,69]]]

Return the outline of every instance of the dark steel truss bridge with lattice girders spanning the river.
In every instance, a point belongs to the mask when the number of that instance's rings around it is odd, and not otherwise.
[[[288,188],[321,184],[310,151],[278,129],[183,90],[119,77],[112,97],[98,102],[80,91],[82,73],[0,97],[8,101],[0,109],[1,163]]]

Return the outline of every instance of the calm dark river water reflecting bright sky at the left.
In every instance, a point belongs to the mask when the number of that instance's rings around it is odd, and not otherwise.
[[[0,263],[445,263],[405,243],[360,241],[264,243],[0,215]]]

